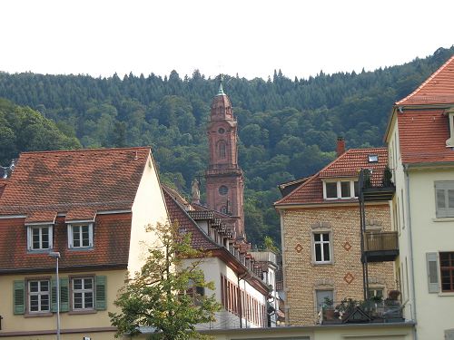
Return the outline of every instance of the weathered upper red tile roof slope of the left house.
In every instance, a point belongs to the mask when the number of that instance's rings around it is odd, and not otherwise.
[[[149,154],[149,148],[24,152],[0,198],[0,215],[93,219],[97,210],[130,209]]]

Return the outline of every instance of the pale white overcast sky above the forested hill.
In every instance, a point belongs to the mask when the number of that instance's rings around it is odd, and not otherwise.
[[[451,0],[3,0],[0,13],[8,73],[293,79],[454,44]]]

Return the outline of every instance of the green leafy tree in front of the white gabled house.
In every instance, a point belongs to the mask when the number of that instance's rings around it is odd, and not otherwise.
[[[109,313],[116,336],[138,335],[140,326],[150,326],[151,339],[206,339],[195,325],[215,321],[220,306],[214,295],[199,292],[214,289],[200,269],[203,254],[191,246],[191,234],[181,234],[177,225],[149,226],[157,242],[148,251],[142,270],[130,279],[114,302],[120,313]]]

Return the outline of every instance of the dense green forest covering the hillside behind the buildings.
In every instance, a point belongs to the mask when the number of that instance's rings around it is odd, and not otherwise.
[[[225,76],[239,121],[248,239],[280,243],[272,202],[277,184],[307,176],[334,158],[337,136],[348,148],[382,145],[391,106],[454,53],[375,72],[289,79]],[[206,123],[218,89],[199,71],[181,77],[132,73],[88,75],[0,73],[0,162],[20,151],[150,145],[163,181],[183,192],[207,166]],[[20,106],[18,106],[20,105]],[[33,110],[32,110],[33,109]],[[203,184],[203,183],[202,183]],[[203,192],[203,189],[202,189]]]

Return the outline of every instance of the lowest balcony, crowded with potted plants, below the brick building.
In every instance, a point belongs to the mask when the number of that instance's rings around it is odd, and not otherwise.
[[[318,320],[322,325],[404,322],[403,307],[399,300],[344,299],[329,306],[323,304]]]

